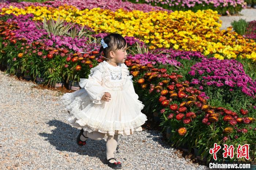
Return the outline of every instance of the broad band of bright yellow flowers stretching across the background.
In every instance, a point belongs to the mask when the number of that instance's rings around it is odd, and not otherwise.
[[[2,8],[1,11],[1,14],[15,12],[16,15],[33,13],[35,15],[33,20],[42,20],[42,16],[47,16],[49,13],[56,19],[61,11],[61,18],[66,22],[87,25],[96,32],[118,30],[124,36],[135,36],[142,39],[150,46],[150,49],[174,48],[200,51],[204,55],[212,54],[219,59],[251,58],[253,61],[256,60],[254,52],[256,51],[256,42],[243,38],[231,31],[230,28],[220,31],[219,15],[212,10],[144,13],[124,11],[123,9],[112,12],[99,8],[81,11],[67,6],[47,9],[40,6],[29,6],[25,9]],[[86,15],[83,15],[84,13]],[[131,20],[131,18],[134,19]],[[142,20],[143,22],[141,22]]]

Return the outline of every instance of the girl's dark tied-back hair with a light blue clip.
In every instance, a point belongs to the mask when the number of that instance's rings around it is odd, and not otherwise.
[[[101,46],[101,48],[99,49],[99,53],[95,55],[96,57],[101,56],[101,53],[103,52],[104,55],[102,56],[107,58],[106,54],[108,54],[110,51],[123,49],[126,45],[126,40],[124,39],[124,37],[117,32],[110,33],[109,35],[105,36],[103,40],[108,45],[108,47],[104,49],[103,46]],[[102,59],[107,60],[106,58]]]

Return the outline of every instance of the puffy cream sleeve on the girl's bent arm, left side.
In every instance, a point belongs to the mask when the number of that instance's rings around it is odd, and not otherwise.
[[[84,88],[89,94],[90,100],[95,104],[101,104],[101,98],[105,92],[108,92],[106,88],[101,86],[102,73],[99,70],[95,70],[93,75],[87,78],[80,78],[79,85]]]

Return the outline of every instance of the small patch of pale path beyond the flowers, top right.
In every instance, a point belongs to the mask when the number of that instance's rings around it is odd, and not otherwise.
[[[246,21],[256,20],[255,8],[242,9],[240,14],[241,14],[240,16],[221,16],[220,17],[220,20],[222,20],[221,30],[226,29],[227,27],[230,27],[231,22],[233,22],[233,20],[238,21],[240,18],[245,19]]]

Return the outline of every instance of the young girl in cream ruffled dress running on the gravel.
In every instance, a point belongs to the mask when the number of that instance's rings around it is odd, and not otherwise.
[[[141,112],[144,105],[138,100],[132,75],[124,63],[126,40],[112,33],[101,39],[101,45],[99,55],[103,51],[108,61],[92,68],[88,79],[80,79],[82,89],[65,93],[61,99],[69,112],[69,123],[82,128],[78,145],[85,145],[88,138],[102,140],[107,135],[105,161],[113,169],[121,169],[121,163],[114,158],[118,135],[142,131],[147,116]]]

